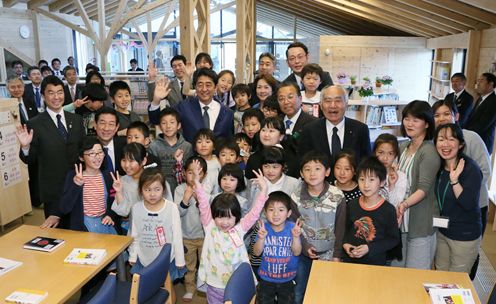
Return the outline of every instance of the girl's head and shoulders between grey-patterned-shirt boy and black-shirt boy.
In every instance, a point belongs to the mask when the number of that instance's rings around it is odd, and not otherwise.
[[[362,195],[355,180],[355,174],[355,153],[351,150],[339,152],[334,163],[334,177],[336,178],[334,186],[343,191],[346,202]]]

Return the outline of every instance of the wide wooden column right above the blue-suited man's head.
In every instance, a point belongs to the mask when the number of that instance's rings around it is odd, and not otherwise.
[[[196,10],[198,28],[194,27]],[[179,0],[181,54],[193,61],[200,52],[210,53],[210,1]]]

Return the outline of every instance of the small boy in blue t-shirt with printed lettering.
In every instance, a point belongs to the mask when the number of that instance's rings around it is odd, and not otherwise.
[[[269,195],[264,206],[268,223],[260,221],[258,239],[253,247],[262,256],[258,269],[260,282],[257,303],[294,303],[294,278],[301,254],[301,224],[287,221],[291,216],[291,198],[282,191]]]

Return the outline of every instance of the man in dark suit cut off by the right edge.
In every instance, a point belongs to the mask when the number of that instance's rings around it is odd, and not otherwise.
[[[472,114],[465,124],[465,129],[479,134],[486,144],[489,154],[493,152],[494,129],[496,128],[496,76],[483,73],[477,78],[476,90],[480,97],[475,103]]]

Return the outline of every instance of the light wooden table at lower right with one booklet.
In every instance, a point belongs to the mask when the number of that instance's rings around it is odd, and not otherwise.
[[[423,283],[455,283],[479,297],[466,273],[314,261],[305,304],[431,303]]]

